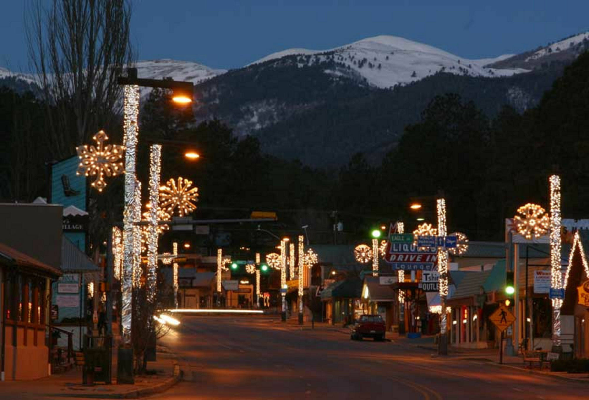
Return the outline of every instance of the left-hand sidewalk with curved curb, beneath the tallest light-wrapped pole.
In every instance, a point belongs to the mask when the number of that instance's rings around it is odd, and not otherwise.
[[[117,365],[113,362],[112,385],[82,385],[81,369],[37,379],[36,381],[0,382],[0,399],[16,398],[138,398],[163,392],[181,379],[176,355],[158,346],[157,361],[148,362],[148,371],[153,375],[135,376],[134,385],[117,385]]]

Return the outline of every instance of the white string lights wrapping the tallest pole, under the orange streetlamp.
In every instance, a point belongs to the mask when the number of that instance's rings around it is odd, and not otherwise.
[[[133,308],[133,265],[134,265],[134,210],[135,210],[135,164],[137,161],[137,119],[139,116],[139,87],[125,85],[124,92],[124,137],[125,147],[125,209],[123,213],[123,274],[121,276],[121,325],[123,343],[131,341],[131,316]],[[139,217],[141,218],[141,216]]]

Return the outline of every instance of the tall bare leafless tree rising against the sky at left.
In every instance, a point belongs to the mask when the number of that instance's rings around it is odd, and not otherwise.
[[[126,0],[37,1],[27,10],[29,59],[55,159],[72,156],[100,129],[114,130],[121,107],[117,77],[133,60],[130,18]]]

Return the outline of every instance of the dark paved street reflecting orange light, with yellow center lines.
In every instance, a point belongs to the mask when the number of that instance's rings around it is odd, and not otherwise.
[[[307,327],[308,328],[308,327]],[[162,341],[186,381],[161,399],[578,399],[589,385],[442,359],[406,342],[350,341],[269,317],[185,316]]]

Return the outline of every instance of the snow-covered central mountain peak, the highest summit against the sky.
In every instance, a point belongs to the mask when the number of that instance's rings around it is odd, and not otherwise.
[[[485,65],[509,58],[511,55],[490,59],[468,59],[426,44],[388,35],[362,39],[328,50],[286,49],[267,55],[246,67],[292,55],[300,56],[297,58],[299,67],[332,59],[339,67],[355,72],[369,85],[378,88],[419,81],[436,72],[472,77],[511,76],[528,72],[524,68],[485,68]],[[342,74],[339,69],[325,72],[332,75]]]

